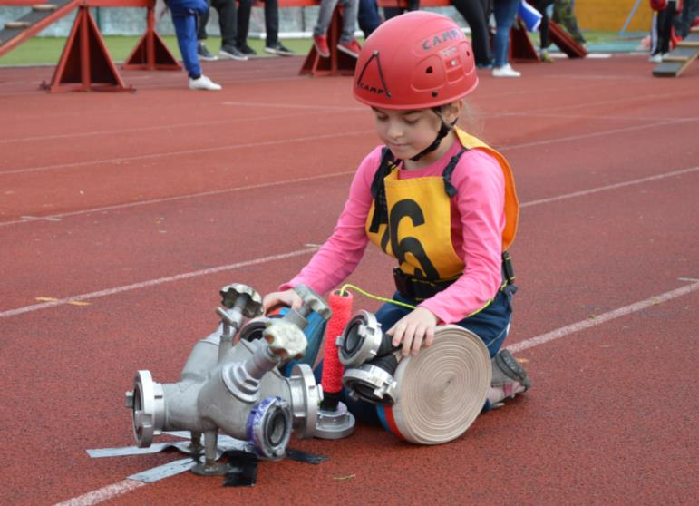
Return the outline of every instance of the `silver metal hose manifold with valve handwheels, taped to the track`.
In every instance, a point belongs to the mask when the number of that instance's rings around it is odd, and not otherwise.
[[[190,431],[196,446],[204,434],[205,461],[194,471],[216,474],[222,472],[216,464],[219,431],[248,441],[269,459],[284,456],[292,430],[297,437],[313,436],[322,389],[310,366],[296,365],[288,378],[278,366],[304,355],[306,316],[316,311],[328,319],[330,309],[309,288],[295,290],[303,307],[267,318],[260,316],[262,300],[255,290],[223,287],[221,325],[194,345],[180,381],[159,384],[149,371],[137,373],[126,393],[136,443],[148,447],[165,431]],[[244,318],[252,319],[240,328]]]

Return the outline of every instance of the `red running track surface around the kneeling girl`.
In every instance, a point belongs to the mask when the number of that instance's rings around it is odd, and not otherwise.
[[[131,72],[133,94],[47,94],[50,69],[0,70],[0,503],[697,503],[699,67],[655,79],[640,56],[481,73],[470,97],[523,203],[507,345],[529,393],[438,447],[360,426],[293,441],[331,460],[262,462],[250,489],[110,488],[179,458],[86,454],[132,444],[135,371],[175,381],[219,287],[293,276],[377,144],[350,79],[300,64],[206,64],[218,93]],[[388,295],[391,267],[370,249],[350,280]]]

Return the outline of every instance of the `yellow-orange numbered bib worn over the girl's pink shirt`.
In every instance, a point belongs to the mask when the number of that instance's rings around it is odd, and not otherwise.
[[[461,129],[455,130],[464,148],[486,151],[500,164],[505,177],[502,248],[506,250],[514,240],[519,220],[519,201],[510,164],[483,141]],[[391,170],[383,184],[388,223],[382,223],[377,232],[370,231],[374,202],[365,225],[369,240],[397,258],[405,274],[432,281],[460,276],[464,265],[451,242],[450,197],[444,189],[442,177],[399,180],[398,170]]]

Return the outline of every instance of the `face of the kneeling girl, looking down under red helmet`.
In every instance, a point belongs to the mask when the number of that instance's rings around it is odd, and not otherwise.
[[[413,156],[432,144],[437,136],[442,124],[437,114],[431,109],[395,111],[372,107],[372,111],[376,133],[395,158],[405,162],[406,169],[419,168],[438,160],[451,145],[451,142],[442,141],[437,151],[432,151],[420,161],[411,161]],[[453,104],[442,107],[442,117],[446,122],[454,121],[459,112],[461,107],[453,107]]]

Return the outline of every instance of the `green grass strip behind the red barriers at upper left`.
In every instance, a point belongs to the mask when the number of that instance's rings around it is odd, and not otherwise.
[[[112,60],[114,62],[122,62],[131,54],[140,37],[105,36],[103,38],[104,44],[106,44],[109,53],[112,55]],[[170,49],[170,52],[180,59],[180,49],[177,46],[175,36],[166,35],[162,36],[162,39]],[[311,47],[310,39],[283,39],[282,42],[286,47],[301,55],[307,54]],[[207,46],[211,53],[218,53],[220,44],[221,39],[219,37],[209,37],[207,39]],[[61,57],[63,45],[65,45],[65,37],[33,37],[8,54],[0,56],[0,66],[55,64],[58,63]],[[248,39],[248,45],[255,49],[260,56],[272,56],[264,53],[265,42],[263,40]]]

